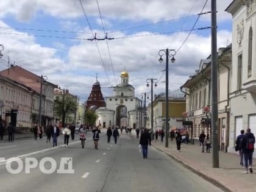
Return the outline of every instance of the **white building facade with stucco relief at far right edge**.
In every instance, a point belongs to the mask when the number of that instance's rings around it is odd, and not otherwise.
[[[228,151],[235,152],[241,129],[256,133],[256,0],[235,0],[226,11],[233,19]]]

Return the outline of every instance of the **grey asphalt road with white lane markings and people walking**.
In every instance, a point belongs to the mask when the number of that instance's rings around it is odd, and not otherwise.
[[[7,165],[15,170],[18,164],[0,160],[0,191],[221,191],[153,147],[149,148],[148,158],[142,158],[138,139],[134,136],[123,134],[118,144],[113,144],[113,140],[107,144],[103,131],[98,150],[94,149],[91,133],[88,133],[84,149],[77,139],[76,135],[75,141],[65,147],[60,136],[57,148],[52,148],[52,143],[46,143],[46,138],[41,141],[30,138],[0,143],[0,157],[20,157],[23,165],[20,173],[11,174]],[[45,157],[50,157],[57,162],[57,169],[68,168],[67,164],[60,165],[61,158],[70,157],[69,165],[72,165],[74,173],[58,174],[53,170],[51,174],[46,174],[39,165],[26,173],[28,165],[25,160],[28,157],[40,163]],[[52,164],[46,162],[43,168],[49,170]]]

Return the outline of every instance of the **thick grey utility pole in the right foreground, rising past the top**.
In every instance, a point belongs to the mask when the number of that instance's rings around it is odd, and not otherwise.
[[[212,87],[212,139],[213,139],[213,168],[219,168],[218,149],[218,76],[217,76],[217,21],[216,0],[212,0],[212,63],[211,63],[211,87]]]

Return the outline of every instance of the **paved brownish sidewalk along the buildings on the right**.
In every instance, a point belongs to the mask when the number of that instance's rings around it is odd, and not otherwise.
[[[212,168],[212,152],[202,153],[199,142],[186,146],[182,144],[180,152],[175,141],[169,140],[169,148],[165,148],[165,141],[152,141],[152,145],[225,191],[256,191],[256,166],[253,167],[253,174],[244,174],[239,155],[219,152],[219,168]],[[254,158],[253,165],[255,163]]]

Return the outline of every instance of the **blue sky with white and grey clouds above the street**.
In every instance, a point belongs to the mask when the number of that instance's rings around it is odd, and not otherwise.
[[[169,64],[169,90],[176,90],[211,52],[210,29],[193,30],[185,41],[205,2],[2,0],[0,44],[4,44],[4,57],[0,70],[8,68],[9,58],[10,64],[47,76],[48,81],[85,101],[96,73],[103,95],[111,96],[110,87],[119,84],[119,74],[126,68],[140,98],[141,93],[150,91],[148,78],[158,79],[155,94],[165,92],[165,61],[158,63],[158,51],[169,48],[177,51],[176,62]],[[231,2],[217,1],[218,48],[232,41],[231,15],[224,11]],[[210,11],[210,4],[209,0],[203,12]],[[210,14],[204,14],[194,29],[209,26]],[[95,33],[104,38],[104,31],[114,39],[88,40]]]

